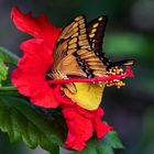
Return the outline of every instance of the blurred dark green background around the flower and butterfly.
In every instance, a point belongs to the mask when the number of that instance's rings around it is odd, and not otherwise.
[[[103,51],[113,61],[136,59],[135,78],[121,89],[107,88],[102,106],[105,119],[113,125],[125,146],[118,154],[154,154],[154,0],[0,0],[0,46],[21,55],[19,45],[28,38],[10,20],[13,6],[44,12],[57,26],[77,14],[90,21],[101,14],[109,16]],[[0,154],[46,154],[28,150],[23,143],[11,144],[0,133]],[[67,153],[67,152],[66,152]]]

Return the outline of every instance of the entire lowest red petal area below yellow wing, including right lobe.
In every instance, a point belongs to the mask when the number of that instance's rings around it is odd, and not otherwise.
[[[81,151],[86,146],[86,142],[91,138],[94,130],[99,139],[113,130],[101,121],[103,116],[101,108],[88,111],[76,103],[72,103],[72,106],[61,105],[61,107],[68,128],[66,147]]]

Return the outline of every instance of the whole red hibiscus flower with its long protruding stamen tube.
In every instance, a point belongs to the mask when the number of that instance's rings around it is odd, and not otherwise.
[[[62,108],[68,134],[65,142],[66,147],[81,151],[86,141],[92,136],[103,138],[111,127],[101,121],[103,110],[97,108],[92,111],[81,108],[72,99],[61,92],[61,84],[70,81],[109,81],[132,76],[128,68],[125,74],[111,75],[94,79],[51,80],[46,79],[46,72],[53,65],[53,48],[59,35],[61,29],[52,25],[48,20],[41,15],[33,18],[31,13],[23,14],[18,8],[13,8],[11,18],[16,28],[34,38],[21,44],[23,56],[13,70],[11,79],[18,90],[30,97],[31,102],[44,108]],[[52,84],[52,85],[51,85]],[[68,95],[69,96],[69,95]]]

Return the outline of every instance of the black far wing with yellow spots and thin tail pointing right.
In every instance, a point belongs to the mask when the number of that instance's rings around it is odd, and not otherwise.
[[[107,22],[108,22],[108,16],[102,15],[92,20],[91,22],[87,24],[87,32],[88,32],[90,45],[94,52],[96,53],[96,55],[100,58],[102,64],[106,66],[106,72],[114,66],[133,65],[134,64],[133,59],[110,62],[110,59],[106,57],[106,54],[102,52],[102,43],[103,43],[103,36],[105,36]],[[96,66],[96,67],[99,67],[99,66]],[[96,73],[95,74],[96,76],[102,76],[103,74],[103,73],[99,73],[99,70],[96,70],[95,73]]]

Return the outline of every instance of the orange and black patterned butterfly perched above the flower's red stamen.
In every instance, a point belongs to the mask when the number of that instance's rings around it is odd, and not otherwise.
[[[86,23],[84,15],[79,15],[68,23],[55,45],[50,76],[53,79],[102,77],[114,66],[132,65],[133,61],[112,63],[102,53],[106,25],[106,15],[89,23]],[[65,86],[75,92],[73,84]]]

